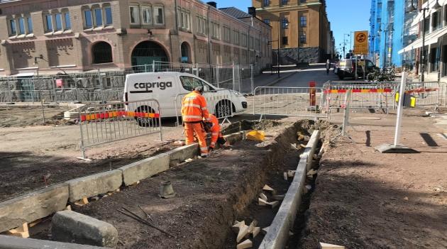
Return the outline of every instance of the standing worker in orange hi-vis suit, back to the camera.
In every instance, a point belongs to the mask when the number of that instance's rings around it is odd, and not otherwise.
[[[208,146],[205,140],[203,120],[209,121],[209,112],[206,108],[206,99],[202,96],[203,88],[196,87],[182,99],[182,120],[186,144],[194,143],[194,133],[199,140],[200,155],[208,156]]]

